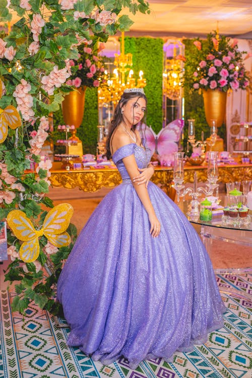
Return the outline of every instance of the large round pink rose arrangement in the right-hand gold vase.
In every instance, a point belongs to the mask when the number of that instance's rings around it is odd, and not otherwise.
[[[248,86],[249,79],[242,59],[245,51],[238,50],[236,39],[230,43],[230,38],[214,32],[208,34],[207,41],[197,40],[194,45],[196,51],[193,64],[196,67],[191,75],[193,89],[219,89],[226,92],[228,89],[245,89]]]

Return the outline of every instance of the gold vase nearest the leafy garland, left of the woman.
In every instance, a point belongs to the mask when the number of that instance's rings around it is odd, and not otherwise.
[[[84,115],[85,92],[87,87],[82,86],[67,94],[62,101],[61,107],[66,124],[74,124],[79,128]]]

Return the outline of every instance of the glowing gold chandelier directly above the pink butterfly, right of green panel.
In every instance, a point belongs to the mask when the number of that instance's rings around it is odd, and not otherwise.
[[[173,56],[165,59],[163,72],[163,93],[171,100],[177,100],[181,96],[183,60],[184,56],[176,55],[173,45]]]

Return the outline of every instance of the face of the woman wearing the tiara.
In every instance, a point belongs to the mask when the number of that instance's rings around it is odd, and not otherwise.
[[[121,107],[124,122],[132,126],[137,124],[144,116],[146,101],[143,97],[134,97]]]

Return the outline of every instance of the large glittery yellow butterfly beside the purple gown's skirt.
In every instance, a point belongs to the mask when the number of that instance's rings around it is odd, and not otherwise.
[[[38,238],[42,235],[58,248],[69,245],[71,237],[65,231],[73,213],[74,209],[70,204],[59,204],[45,216],[43,228],[35,230],[32,222],[23,211],[12,210],[7,216],[7,222],[14,235],[23,241],[19,250],[21,260],[25,263],[32,263],[38,258]]]

